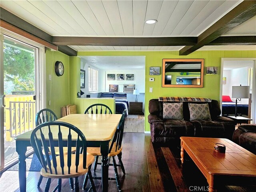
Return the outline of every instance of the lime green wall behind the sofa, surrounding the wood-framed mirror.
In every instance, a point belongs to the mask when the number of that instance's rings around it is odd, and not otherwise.
[[[146,85],[145,85],[145,130],[149,131],[149,123],[147,116],[148,101],[159,96],[189,96],[189,97],[206,97],[219,100],[220,97],[220,75],[206,76],[204,72],[204,88],[162,88],[162,74],[159,76],[150,76],[150,67],[161,67],[162,59],[171,58],[203,58],[204,66],[217,66],[220,70],[221,58],[224,57],[256,57],[256,51],[196,51],[188,56],[179,56],[178,51],[106,51],[106,52],[78,52],[78,56],[146,56]],[[204,70],[205,71],[205,70]],[[149,82],[149,78],[154,77],[154,82]],[[76,82],[70,82],[76,85]],[[153,88],[153,92],[149,92],[149,88]]]

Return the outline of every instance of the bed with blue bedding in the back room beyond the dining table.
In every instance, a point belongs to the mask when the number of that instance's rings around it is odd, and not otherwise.
[[[126,116],[128,115],[129,103],[127,101],[127,95],[121,93],[102,93],[100,98],[115,98],[116,99],[116,114],[122,114],[126,109]]]

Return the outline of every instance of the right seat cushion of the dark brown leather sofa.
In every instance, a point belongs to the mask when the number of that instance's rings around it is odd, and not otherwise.
[[[196,137],[224,138],[225,128],[222,123],[201,120],[191,121],[194,125]]]

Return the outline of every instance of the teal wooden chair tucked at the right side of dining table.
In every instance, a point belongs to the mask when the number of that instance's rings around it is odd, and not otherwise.
[[[120,179],[119,179],[119,175],[117,172],[117,166],[120,166],[122,169],[123,174],[125,174],[125,170],[124,170],[124,164],[122,162],[122,139],[123,139],[123,134],[124,134],[124,120],[125,120],[125,116],[126,116],[126,109],[124,110],[124,112],[122,113],[122,117],[120,119],[120,122],[118,124],[118,127],[116,129],[115,135],[113,140],[110,142],[110,148],[108,151],[108,157],[112,157],[112,161],[113,164],[108,164],[109,166],[113,166],[114,167],[114,172],[115,172],[115,176],[116,178],[108,178],[109,180],[116,180],[116,184],[118,187],[118,191],[121,191],[121,185],[120,185]],[[94,155],[96,157],[100,156],[100,147],[88,147],[87,148],[87,154],[88,155]],[[116,164],[116,160],[115,160],[115,156],[118,156],[118,160],[120,164]],[[96,163],[96,164],[100,164],[100,163]],[[95,167],[95,164],[94,164]],[[88,177],[89,175],[86,174],[85,178],[84,178],[84,185],[83,185],[83,189],[85,188],[87,181],[88,181]],[[93,177],[94,179],[101,179],[101,177]]]

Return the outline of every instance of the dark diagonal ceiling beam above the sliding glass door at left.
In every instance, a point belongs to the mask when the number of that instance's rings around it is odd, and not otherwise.
[[[52,36],[50,34],[40,30],[39,28],[37,28],[34,25],[24,21],[23,19],[21,19],[18,16],[12,14],[11,12],[8,12],[7,10],[5,10],[2,7],[0,7],[0,18],[1,18],[1,20],[7,22],[8,24],[11,24],[11,25],[15,26],[16,28],[18,28],[20,30],[23,30],[24,32],[27,32],[27,33],[29,33],[29,34],[37,37],[37,38],[40,38],[40,39],[52,44]],[[44,45],[44,46],[46,46],[46,45]],[[68,46],[66,46],[66,48],[64,46],[62,46],[62,48],[58,48],[58,50],[60,52],[62,52],[61,50],[65,50],[65,51],[69,50],[69,51],[66,51],[66,53],[67,52],[70,52],[70,54],[73,53],[72,55],[68,55],[68,56],[77,56],[77,52],[73,49],[72,50],[70,50],[70,49],[71,48],[68,47]],[[76,53],[74,54],[74,52],[76,52]],[[65,52],[63,52],[63,53],[65,53]]]

